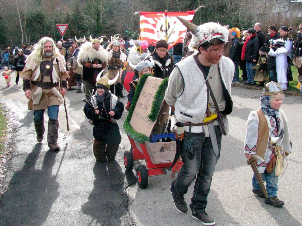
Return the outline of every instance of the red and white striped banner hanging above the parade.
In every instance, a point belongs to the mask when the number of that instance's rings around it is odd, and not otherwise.
[[[149,44],[165,39],[165,16],[167,16],[169,49],[176,43],[183,42],[187,28],[176,17],[192,21],[195,11],[187,12],[140,12],[140,37]]]

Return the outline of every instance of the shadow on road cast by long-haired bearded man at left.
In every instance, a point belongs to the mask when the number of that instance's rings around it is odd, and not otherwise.
[[[21,170],[14,173],[2,196],[0,225],[42,225],[59,196],[59,183],[52,175],[57,152],[47,151],[41,169],[36,163],[42,144],[35,145]]]

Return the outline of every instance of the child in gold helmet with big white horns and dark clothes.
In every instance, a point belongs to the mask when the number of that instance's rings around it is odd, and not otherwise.
[[[102,73],[102,72],[101,72]],[[100,73],[100,74],[101,74]],[[86,103],[85,115],[93,120],[93,154],[98,162],[113,161],[121,141],[120,128],[117,119],[120,119],[124,111],[124,104],[109,91],[110,86],[117,81],[117,76],[110,80],[107,77],[100,78],[96,82],[96,94]]]

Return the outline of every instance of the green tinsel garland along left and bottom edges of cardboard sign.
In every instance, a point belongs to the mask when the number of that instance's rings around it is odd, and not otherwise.
[[[145,74],[145,75],[142,75],[142,77],[140,78],[140,82],[139,82],[139,84],[137,84],[137,87],[136,87],[136,90],[135,90],[135,93],[134,93],[134,96],[133,96],[133,99],[132,99],[132,103],[131,103],[129,112],[128,112],[127,118],[126,118],[126,120],[124,122],[124,126],[123,126],[126,134],[131,139],[133,139],[133,140],[135,140],[139,143],[149,141],[149,137],[147,137],[146,135],[144,135],[142,133],[139,133],[139,132],[135,131],[132,128],[132,126],[130,125],[130,119],[132,117],[132,114],[133,114],[135,105],[137,103],[138,97],[140,96],[140,92],[142,91],[143,86],[144,86],[148,76],[152,76],[152,75],[151,74]]]

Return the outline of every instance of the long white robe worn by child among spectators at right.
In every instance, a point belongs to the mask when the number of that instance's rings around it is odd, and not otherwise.
[[[270,49],[268,55],[276,57],[277,79],[280,82],[282,90],[287,90],[287,50],[284,47],[280,47],[276,51]]]

